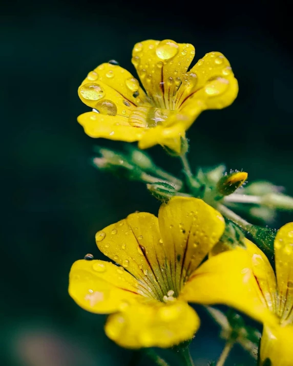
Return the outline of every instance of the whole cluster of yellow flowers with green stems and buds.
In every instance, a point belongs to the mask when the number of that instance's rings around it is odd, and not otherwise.
[[[266,183],[253,183],[240,194],[247,179],[243,171],[224,173],[225,167],[218,166],[192,173],[185,156],[186,130],[202,111],[228,106],[238,93],[221,53],[207,53],[188,70],[194,55],[190,44],[146,40],[132,54],[145,91],[115,60],[82,81],[78,95],[92,112],[78,122],[89,136],[138,141],[141,149],[160,144],[180,156],[184,181],[135,148],[126,155],[99,149],[95,166],[147,183],[162,204],[158,217],[135,212],[97,231],[96,244],[112,262],[91,254],[76,261],[69,293],[83,309],[109,314],[106,334],[132,349],[180,345],[200,326],[189,303],[223,304],[263,324],[260,365],[290,366],[293,223],[276,232],[250,224],[231,208],[252,205],[255,211],[247,214],[254,217],[253,212],[263,210],[268,218],[272,209],[292,209],[293,200]],[[239,336],[233,326],[228,328],[227,345],[239,340],[245,348],[247,332]]]

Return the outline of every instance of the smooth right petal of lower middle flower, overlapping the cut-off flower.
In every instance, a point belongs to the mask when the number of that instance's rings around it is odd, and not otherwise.
[[[226,251],[204,262],[185,284],[181,297],[204,304],[224,304],[268,324],[277,321],[265,303],[244,250]]]

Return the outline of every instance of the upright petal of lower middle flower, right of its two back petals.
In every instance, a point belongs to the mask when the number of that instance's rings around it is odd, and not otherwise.
[[[218,242],[224,219],[202,200],[174,197],[161,205],[159,226],[179,289]]]

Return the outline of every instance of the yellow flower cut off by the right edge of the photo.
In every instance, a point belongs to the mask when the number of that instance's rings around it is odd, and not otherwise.
[[[293,364],[293,223],[281,227],[274,243],[276,276],[264,253],[246,241],[250,267],[259,284],[263,302],[278,317],[278,324],[264,324],[260,346],[261,363],[269,358],[273,366]]]

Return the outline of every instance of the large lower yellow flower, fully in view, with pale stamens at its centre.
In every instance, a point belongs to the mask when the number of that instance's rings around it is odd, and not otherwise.
[[[85,310],[111,314],[106,334],[122,347],[171,347],[190,339],[199,318],[187,302],[226,304],[269,320],[250,258],[238,250],[206,254],[224,230],[219,212],[196,198],[172,198],[158,218],[132,213],[96,234],[116,264],[80,260],[69,293]]]

